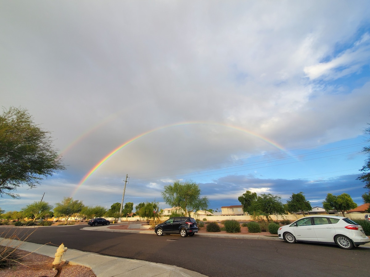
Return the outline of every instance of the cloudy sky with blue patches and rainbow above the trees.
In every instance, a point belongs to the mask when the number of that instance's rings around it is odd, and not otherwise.
[[[366,192],[370,2],[1,1],[0,106],[28,110],[67,169],[0,207],[163,202],[246,190]]]

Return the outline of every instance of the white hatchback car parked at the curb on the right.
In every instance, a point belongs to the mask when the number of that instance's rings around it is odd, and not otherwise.
[[[342,216],[306,216],[280,227],[277,234],[288,243],[329,243],[343,249],[370,242],[360,225]]]

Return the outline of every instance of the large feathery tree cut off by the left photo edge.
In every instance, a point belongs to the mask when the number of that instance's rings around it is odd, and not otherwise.
[[[26,109],[4,110],[0,116],[0,145],[0,195],[19,198],[13,191],[21,185],[34,188],[42,177],[65,169],[50,132],[33,123]]]

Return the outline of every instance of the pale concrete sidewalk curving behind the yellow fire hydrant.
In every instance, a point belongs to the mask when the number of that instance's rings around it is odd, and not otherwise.
[[[57,246],[41,245],[20,240],[2,239],[0,244],[9,247],[19,247],[21,250],[35,252],[38,254],[55,257]],[[151,263],[148,261],[125,259],[119,257],[104,256],[91,252],[68,249],[65,252],[63,261],[71,265],[90,267],[97,277],[201,277],[203,274],[195,271],[182,269],[181,267],[169,266],[166,264]]]

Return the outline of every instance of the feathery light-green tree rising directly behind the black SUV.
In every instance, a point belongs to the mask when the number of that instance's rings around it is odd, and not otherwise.
[[[199,185],[192,180],[185,182],[176,180],[173,185],[164,186],[164,191],[162,191],[162,198],[166,204],[182,208],[185,215],[189,216],[190,212],[208,208],[208,198],[200,195]]]

